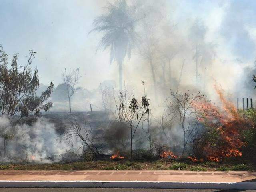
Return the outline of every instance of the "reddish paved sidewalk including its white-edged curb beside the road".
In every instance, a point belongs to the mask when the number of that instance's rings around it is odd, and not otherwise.
[[[256,189],[256,172],[0,171],[0,187]]]

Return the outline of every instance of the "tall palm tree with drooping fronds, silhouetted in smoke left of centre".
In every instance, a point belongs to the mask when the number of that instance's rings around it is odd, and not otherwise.
[[[93,22],[92,31],[103,33],[98,49],[110,48],[110,64],[117,61],[120,91],[123,84],[124,58],[126,55],[130,58],[132,44],[136,39],[135,22],[126,0],[116,0],[115,4],[108,3],[107,12]]]

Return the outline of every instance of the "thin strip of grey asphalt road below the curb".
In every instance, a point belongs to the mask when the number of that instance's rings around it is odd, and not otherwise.
[[[107,188],[0,188],[0,192],[256,192],[256,190],[107,189]]]

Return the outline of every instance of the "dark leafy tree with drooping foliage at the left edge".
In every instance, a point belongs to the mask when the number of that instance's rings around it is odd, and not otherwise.
[[[36,95],[39,87],[38,70],[32,73],[30,65],[36,52],[30,50],[30,57],[25,66],[18,70],[18,53],[14,54],[11,66],[8,69],[8,55],[0,45],[0,113],[1,117],[19,115],[20,118],[28,116],[31,112],[39,115],[41,110],[48,111],[52,102],[50,98],[54,84],[51,82],[41,96]],[[19,119],[20,120],[20,119]]]

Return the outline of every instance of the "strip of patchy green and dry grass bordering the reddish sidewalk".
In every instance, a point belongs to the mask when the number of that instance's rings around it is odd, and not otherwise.
[[[82,161],[53,164],[2,164],[0,170],[191,170],[191,171],[250,171],[256,166],[246,161],[225,162],[188,162],[155,160],[155,161]]]

